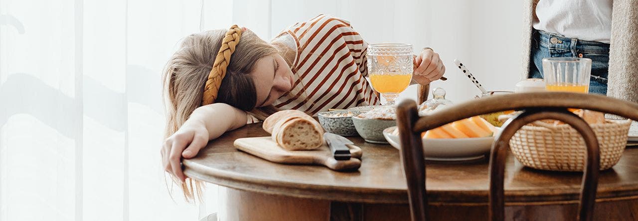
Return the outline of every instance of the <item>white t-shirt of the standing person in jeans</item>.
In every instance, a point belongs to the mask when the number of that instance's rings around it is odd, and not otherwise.
[[[613,0],[540,0],[533,27],[578,38],[609,43]]]

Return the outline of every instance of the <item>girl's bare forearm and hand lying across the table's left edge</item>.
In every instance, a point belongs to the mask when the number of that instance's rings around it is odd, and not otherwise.
[[[246,125],[246,112],[225,103],[198,107],[177,132],[168,137],[161,150],[164,169],[184,181],[181,158],[193,158],[208,141],[224,132]]]

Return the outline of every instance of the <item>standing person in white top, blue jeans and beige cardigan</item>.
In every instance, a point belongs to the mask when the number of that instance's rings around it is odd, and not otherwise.
[[[638,1],[526,0],[523,78],[544,57],[587,57],[590,93],[638,102]]]

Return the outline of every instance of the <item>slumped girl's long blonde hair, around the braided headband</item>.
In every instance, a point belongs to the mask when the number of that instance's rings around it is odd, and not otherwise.
[[[163,100],[167,116],[165,138],[177,132],[193,110],[202,105],[205,82],[211,72],[226,30],[186,36],[163,70]],[[253,71],[258,59],[278,53],[271,44],[245,30],[232,54],[216,102],[249,111],[256,105]],[[173,179],[177,183],[177,179]],[[190,178],[182,183],[186,201],[200,195],[201,184]],[[195,185],[193,187],[193,185]],[[197,191],[197,194],[195,192]]]

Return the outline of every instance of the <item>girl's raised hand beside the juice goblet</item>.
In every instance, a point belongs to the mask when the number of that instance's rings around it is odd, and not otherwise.
[[[424,49],[419,56],[414,57],[414,73],[412,79],[421,85],[429,84],[443,77],[445,65],[439,55],[432,49]]]

